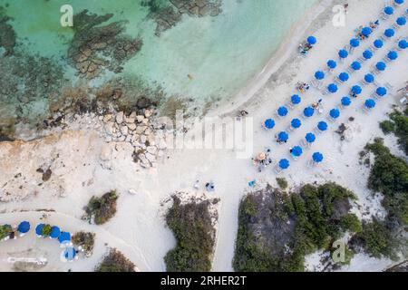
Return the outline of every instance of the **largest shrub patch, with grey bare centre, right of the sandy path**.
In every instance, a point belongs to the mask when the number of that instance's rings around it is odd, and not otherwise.
[[[274,198],[262,201],[268,196]],[[235,270],[303,271],[307,254],[329,250],[346,231],[361,230],[358,218],[349,213],[350,198],[354,194],[335,183],[306,185],[290,196],[276,189],[249,194],[239,206]],[[265,211],[270,211],[267,218]],[[267,233],[268,224],[273,235]]]

